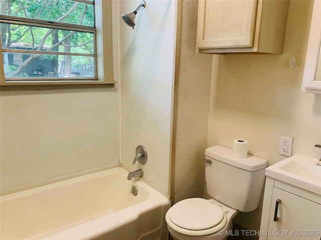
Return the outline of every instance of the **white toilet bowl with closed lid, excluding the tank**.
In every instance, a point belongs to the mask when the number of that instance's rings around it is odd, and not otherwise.
[[[175,240],[222,240],[237,213],[215,199],[196,197],[177,202],[165,218]]]

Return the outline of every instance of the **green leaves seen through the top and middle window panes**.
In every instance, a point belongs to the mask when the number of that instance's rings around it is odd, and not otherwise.
[[[66,14],[75,5],[77,5],[77,7],[70,12],[70,14]],[[65,18],[62,20],[73,24],[80,24],[80,19],[83,15],[83,25],[93,25],[94,19],[92,5],[71,0],[12,0],[10,12],[16,16],[27,16],[53,21],[56,21],[65,15]],[[7,25],[7,23],[1,24]],[[46,33],[52,30],[50,28],[11,24],[7,29],[10,29],[11,43],[21,43],[25,47],[34,46],[37,49],[37,46],[44,40],[44,47],[40,50],[47,50],[54,43],[57,43],[53,42],[51,34],[43,39]],[[59,41],[71,32],[72,31],[70,30],[58,30]],[[9,32],[4,36],[7,37],[8,33]],[[74,32],[74,34],[69,37],[68,42],[68,44],[75,46],[71,46],[71,52],[93,53],[94,45],[92,33]],[[9,45],[11,45],[11,43]],[[59,44],[59,51],[64,51],[63,43],[64,42],[61,42],[61,44]],[[76,47],[77,45],[79,46]]]

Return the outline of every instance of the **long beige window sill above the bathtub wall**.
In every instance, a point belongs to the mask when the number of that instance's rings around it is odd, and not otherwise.
[[[114,87],[116,81],[7,81],[0,82],[0,90],[45,90],[62,88]]]

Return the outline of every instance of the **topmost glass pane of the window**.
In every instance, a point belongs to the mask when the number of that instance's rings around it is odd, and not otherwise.
[[[94,25],[93,4],[72,0],[2,0],[1,14],[61,21],[79,25]]]

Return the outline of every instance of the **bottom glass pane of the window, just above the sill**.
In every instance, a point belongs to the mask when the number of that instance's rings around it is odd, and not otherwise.
[[[93,56],[3,52],[3,58],[5,76],[9,78],[95,77]]]

